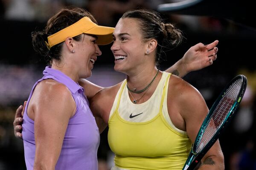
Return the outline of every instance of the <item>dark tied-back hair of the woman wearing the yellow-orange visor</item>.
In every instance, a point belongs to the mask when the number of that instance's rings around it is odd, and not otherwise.
[[[56,32],[76,23],[83,17],[89,17],[94,23],[97,23],[93,15],[81,8],[63,8],[51,17],[43,31],[32,32],[32,45],[37,54],[44,57],[47,64],[51,64],[52,59],[61,59],[61,48],[63,42],[48,49],[47,37]],[[81,40],[81,35],[73,37],[74,40]]]

